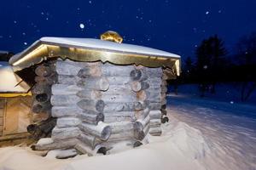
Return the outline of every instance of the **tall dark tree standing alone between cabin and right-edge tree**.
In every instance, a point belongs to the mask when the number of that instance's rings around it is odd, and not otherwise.
[[[211,93],[214,94],[218,75],[224,68],[224,57],[227,54],[224,42],[217,35],[209,37],[201,42],[195,54],[196,71],[201,81],[201,96],[204,96],[209,85],[212,87]]]

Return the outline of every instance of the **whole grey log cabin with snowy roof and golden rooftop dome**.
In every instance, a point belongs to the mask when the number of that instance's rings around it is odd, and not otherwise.
[[[9,60],[32,84],[27,131],[39,139],[32,149],[93,156],[162,133],[166,80],[179,76],[180,56],[122,41],[114,31],[101,39],[42,37]]]

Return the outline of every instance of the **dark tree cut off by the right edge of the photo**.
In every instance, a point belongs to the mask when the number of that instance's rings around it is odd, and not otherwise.
[[[236,59],[239,62],[243,82],[241,86],[241,100],[246,101],[256,88],[256,32],[241,37],[237,43]]]

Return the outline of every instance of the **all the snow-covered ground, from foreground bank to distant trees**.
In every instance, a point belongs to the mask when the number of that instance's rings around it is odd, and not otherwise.
[[[108,156],[56,160],[26,147],[0,149],[1,170],[255,170],[256,105],[168,95],[170,121],[160,137],[136,149],[113,150]]]

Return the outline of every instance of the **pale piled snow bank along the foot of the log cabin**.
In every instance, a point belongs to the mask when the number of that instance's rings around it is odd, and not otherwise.
[[[76,156],[67,160],[41,157],[28,148],[8,147],[0,149],[0,169],[205,169],[201,161],[211,152],[200,131],[175,120],[163,125],[162,136],[148,136],[148,140],[150,144],[114,150],[108,156]]]

